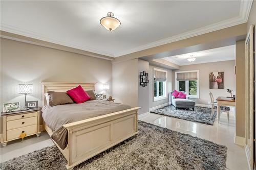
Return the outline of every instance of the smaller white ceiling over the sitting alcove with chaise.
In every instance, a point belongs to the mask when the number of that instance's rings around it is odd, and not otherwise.
[[[193,55],[195,61],[189,62],[187,59]],[[177,65],[191,65],[217,61],[227,61],[236,59],[236,45],[213,48],[210,50],[199,51],[195,53],[187,53],[177,56],[165,57],[164,60],[170,61]]]

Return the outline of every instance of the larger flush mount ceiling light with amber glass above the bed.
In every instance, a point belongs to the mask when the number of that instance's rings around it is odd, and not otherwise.
[[[121,22],[117,18],[113,17],[114,14],[112,12],[108,12],[107,15],[108,16],[100,19],[100,24],[105,27],[105,29],[114,31],[121,25]]]

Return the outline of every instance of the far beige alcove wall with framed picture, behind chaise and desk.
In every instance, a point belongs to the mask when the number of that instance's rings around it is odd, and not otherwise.
[[[197,104],[209,105],[209,90],[214,94],[216,99],[218,96],[229,96],[226,89],[236,90],[236,75],[234,74],[235,61],[220,61],[203,64],[193,64],[180,66],[179,70],[175,71],[187,71],[187,70],[199,70],[200,74],[200,99],[191,99]],[[174,74],[175,74],[174,71]],[[224,89],[209,89],[209,73],[224,71]],[[175,77],[175,76],[174,76]],[[174,80],[175,89],[175,80]]]

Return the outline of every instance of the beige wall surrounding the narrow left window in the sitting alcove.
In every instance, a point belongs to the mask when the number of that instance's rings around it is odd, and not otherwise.
[[[148,90],[149,90],[149,94],[150,94],[150,98],[149,98],[149,103],[150,103],[149,107],[150,108],[168,103],[168,98],[154,102],[154,80],[153,80],[154,70],[153,70],[153,68],[167,70],[167,96],[168,96],[169,92],[172,91],[172,89],[173,89],[173,70],[150,65],[150,69],[148,71],[148,80],[150,82],[148,84]]]

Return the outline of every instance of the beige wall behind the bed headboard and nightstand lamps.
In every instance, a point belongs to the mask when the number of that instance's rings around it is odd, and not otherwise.
[[[112,85],[112,63],[1,38],[1,102],[20,102],[23,107],[25,98],[17,93],[17,85],[32,83],[33,93],[27,100],[41,106],[41,81],[97,82],[96,92],[100,92],[103,83]]]

